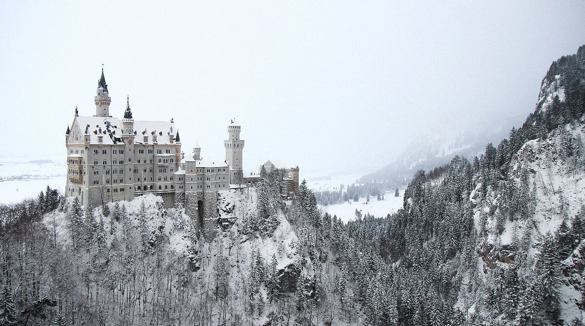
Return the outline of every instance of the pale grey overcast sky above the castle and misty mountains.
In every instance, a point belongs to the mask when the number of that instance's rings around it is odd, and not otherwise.
[[[245,172],[267,159],[373,171],[429,130],[534,110],[553,60],[585,43],[585,2],[2,1],[0,159],[65,159],[94,115],[102,64],[113,116],[170,120],[183,150]],[[510,122],[510,126],[512,121]]]

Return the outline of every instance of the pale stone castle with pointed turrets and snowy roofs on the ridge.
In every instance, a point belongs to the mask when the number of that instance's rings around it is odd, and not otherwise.
[[[213,238],[218,192],[246,183],[241,126],[234,119],[228,125],[225,161],[204,161],[198,145],[192,157],[185,158],[173,119],[134,120],[129,98],[123,119],[112,117],[103,68],[94,103],[94,116],[80,116],[75,107],[73,123],[67,127],[65,196],[77,196],[83,206],[95,207],[154,193],[167,207],[184,207],[205,238]]]

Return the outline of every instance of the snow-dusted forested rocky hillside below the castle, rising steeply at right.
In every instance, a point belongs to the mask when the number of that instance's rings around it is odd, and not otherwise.
[[[220,192],[205,242],[160,197],[0,206],[2,325],[582,325],[585,46],[519,129],[343,224],[305,183]],[[229,202],[229,203],[228,203]]]

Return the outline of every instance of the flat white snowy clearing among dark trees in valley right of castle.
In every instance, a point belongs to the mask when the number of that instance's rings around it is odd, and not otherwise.
[[[371,201],[366,204],[366,200],[362,198],[360,202],[346,202],[329,206],[319,205],[319,208],[328,212],[332,216],[337,215],[337,217],[344,222],[356,218],[356,209],[362,211],[362,216],[366,213],[370,213],[376,217],[386,217],[388,214],[395,213],[395,211],[402,208],[403,194],[404,192],[401,190],[400,196],[394,197],[394,192],[386,192],[384,194],[384,200],[378,201],[376,200],[376,197],[372,197]]]

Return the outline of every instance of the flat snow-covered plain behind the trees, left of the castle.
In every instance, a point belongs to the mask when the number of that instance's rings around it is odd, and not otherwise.
[[[20,202],[36,197],[41,190],[59,189],[63,192],[67,165],[63,162],[0,162],[0,203]]]

